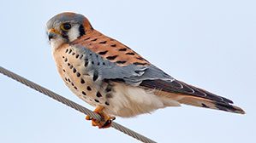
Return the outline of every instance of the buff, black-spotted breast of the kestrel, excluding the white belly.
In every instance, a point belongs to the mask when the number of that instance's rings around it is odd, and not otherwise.
[[[63,46],[54,52],[57,70],[68,88],[81,100],[92,106],[110,106],[110,83],[99,79],[98,72],[94,72],[92,65],[107,64],[94,63],[93,59],[101,59],[89,50],[72,46]]]

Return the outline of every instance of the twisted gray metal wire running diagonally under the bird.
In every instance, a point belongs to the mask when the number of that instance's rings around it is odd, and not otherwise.
[[[92,112],[91,110],[87,109],[86,107],[80,106],[79,104],[75,103],[74,101],[68,100],[68,99],[64,98],[63,96],[52,92],[49,89],[45,89],[44,87],[40,86],[39,84],[33,83],[33,82],[27,80],[26,78],[15,74],[14,72],[10,72],[10,71],[6,70],[5,68],[3,68],[2,66],[0,66],[0,73],[2,73],[3,75],[5,75],[7,77],[10,77],[10,78],[14,79],[17,82],[25,84],[28,87],[30,87],[32,89],[35,89],[35,90],[39,91],[40,93],[45,94],[45,95],[51,97],[52,99],[57,100],[57,101],[65,104],[66,106],[69,106],[69,107],[71,107],[71,108],[73,108],[73,109],[75,109],[79,112],[82,112],[86,115],[89,115],[92,118],[95,118],[97,120],[100,119],[100,116],[98,114],[96,114],[95,112]],[[133,137],[134,139],[140,140],[142,142],[145,142],[145,143],[155,143],[156,142],[154,140],[151,140],[151,139],[147,138],[144,135],[138,134],[138,133],[134,132],[133,130],[122,126],[119,123],[114,123],[113,122],[111,124],[111,127],[121,131],[124,134],[128,134],[129,136]]]

